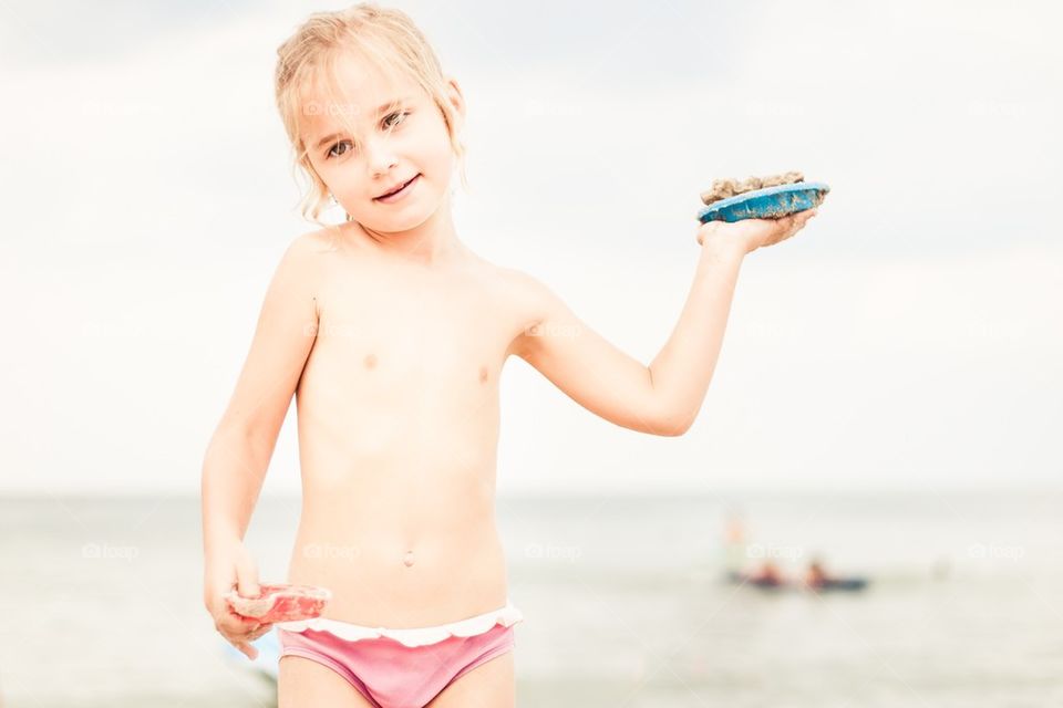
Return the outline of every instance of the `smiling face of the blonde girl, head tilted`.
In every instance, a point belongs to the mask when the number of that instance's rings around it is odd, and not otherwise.
[[[395,232],[420,226],[447,197],[454,168],[442,111],[415,83],[388,82],[350,53],[336,70],[340,95],[314,92],[302,107],[310,164],[363,227]],[[447,90],[464,118],[457,82],[450,80]],[[380,199],[410,180],[398,200]]]

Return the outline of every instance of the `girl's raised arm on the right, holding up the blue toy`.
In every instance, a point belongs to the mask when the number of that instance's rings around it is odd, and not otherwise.
[[[602,339],[541,282],[515,271],[523,306],[534,316],[512,351],[610,423],[640,433],[682,435],[709,391],[743,259],[792,237],[813,216],[809,209],[782,219],[702,225],[690,295],[649,366]]]

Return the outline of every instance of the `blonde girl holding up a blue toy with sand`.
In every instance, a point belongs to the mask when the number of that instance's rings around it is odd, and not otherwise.
[[[515,354],[607,420],[682,435],[743,257],[815,212],[701,226],[689,299],[646,366],[541,282],[462,243],[450,187],[465,102],[404,13],[316,13],[278,53],[277,105],[311,180],[303,215],[317,220],[331,198],[347,219],[285,252],[208,446],[205,604],[255,658],[249,643],[272,625],[223,594],[258,591],[242,539],[295,395],[303,492],[287,581],[333,600],[276,625],[281,708],[513,706],[523,616],[494,521],[503,365]]]

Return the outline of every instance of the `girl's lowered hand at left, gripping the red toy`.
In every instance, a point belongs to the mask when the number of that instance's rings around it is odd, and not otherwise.
[[[254,597],[259,593],[258,568],[240,542],[207,559],[203,600],[218,633],[254,660],[258,649],[251,646],[251,642],[269,632],[274,625],[233,612],[224,595],[234,587],[244,597]]]

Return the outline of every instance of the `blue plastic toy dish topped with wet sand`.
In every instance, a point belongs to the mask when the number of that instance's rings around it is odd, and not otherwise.
[[[698,220],[741,221],[743,219],[780,219],[797,211],[818,207],[830,187],[819,181],[805,181],[796,171],[772,177],[750,177],[739,181],[718,179],[712,189],[701,195],[706,206]]]

